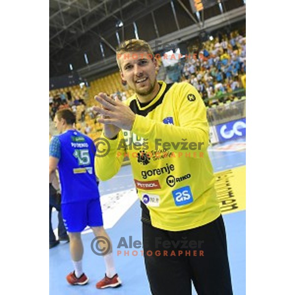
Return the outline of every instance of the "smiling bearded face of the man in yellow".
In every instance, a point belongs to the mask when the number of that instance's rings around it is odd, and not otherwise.
[[[145,52],[128,52],[119,59],[121,78],[141,96],[149,95],[156,86],[156,59]]]

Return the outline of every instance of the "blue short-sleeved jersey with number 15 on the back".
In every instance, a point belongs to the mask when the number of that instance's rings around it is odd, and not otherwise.
[[[94,172],[95,146],[88,136],[77,130],[55,136],[49,155],[59,158],[62,204],[99,198]]]

